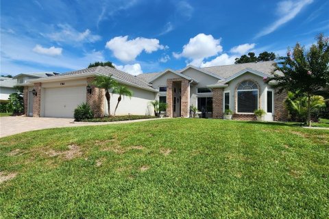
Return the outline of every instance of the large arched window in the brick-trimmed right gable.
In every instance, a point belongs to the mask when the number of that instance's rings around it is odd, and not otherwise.
[[[238,113],[253,113],[258,109],[258,86],[254,81],[243,81],[237,89]]]

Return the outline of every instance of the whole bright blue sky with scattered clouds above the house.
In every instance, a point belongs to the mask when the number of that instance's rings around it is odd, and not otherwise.
[[[1,74],[110,61],[134,75],[284,54],[329,35],[329,1],[1,1]]]

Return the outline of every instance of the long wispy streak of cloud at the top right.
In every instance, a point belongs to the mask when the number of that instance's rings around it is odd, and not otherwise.
[[[276,8],[276,13],[278,14],[279,19],[265,27],[260,31],[255,38],[271,34],[271,32],[278,29],[281,25],[284,25],[288,21],[291,21],[298,13],[306,6],[312,3],[313,0],[299,0],[299,1],[280,1]]]

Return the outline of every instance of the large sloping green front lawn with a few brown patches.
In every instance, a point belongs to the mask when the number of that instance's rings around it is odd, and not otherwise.
[[[329,218],[329,131],[284,123],[32,131],[0,138],[0,169],[3,218]]]

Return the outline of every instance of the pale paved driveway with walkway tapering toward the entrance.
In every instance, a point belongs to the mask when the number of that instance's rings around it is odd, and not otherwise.
[[[51,129],[58,127],[78,127],[86,125],[110,125],[121,123],[136,123],[145,120],[155,120],[159,118],[149,118],[143,120],[128,120],[112,123],[74,123],[73,118],[36,118],[25,116],[3,116],[0,117],[0,138],[11,136],[25,131],[33,131],[39,129]]]

